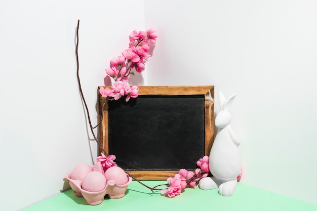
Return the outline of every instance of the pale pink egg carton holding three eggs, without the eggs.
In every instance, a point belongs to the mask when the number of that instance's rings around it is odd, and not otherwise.
[[[100,204],[104,196],[108,194],[109,198],[122,198],[125,196],[128,185],[131,183],[132,178],[129,177],[129,181],[123,185],[117,185],[113,180],[109,180],[103,190],[98,192],[90,192],[82,188],[83,181],[73,180],[70,178],[71,172],[66,175],[64,181],[69,182],[71,189],[74,191],[76,196],[82,196],[86,199],[90,205]]]

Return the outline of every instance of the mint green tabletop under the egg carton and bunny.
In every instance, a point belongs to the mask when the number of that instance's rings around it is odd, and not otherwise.
[[[166,181],[142,181],[150,187],[166,183]],[[163,186],[164,187],[164,186]],[[105,200],[98,205],[88,205],[83,197],[77,197],[72,190],[55,195],[51,198],[33,204],[23,211],[82,211],[82,210],[317,210],[317,204],[276,194],[270,191],[238,183],[232,196],[218,194],[218,189],[201,190],[199,187],[186,188],[174,198],[161,195],[160,191],[151,192],[149,189],[132,181],[123,198]]]

